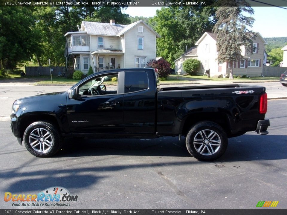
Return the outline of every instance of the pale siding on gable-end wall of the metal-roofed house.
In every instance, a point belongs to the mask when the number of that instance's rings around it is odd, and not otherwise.
[[[138,32],[138,25],[144,27],[143,33]],[[146,57],[146,62],[155,58],[156,35],[142,23],[125,33],[124,52],[125,68],[135,67],[135,56]],[[144,49],[138,50],[138,37],[144,38]]]

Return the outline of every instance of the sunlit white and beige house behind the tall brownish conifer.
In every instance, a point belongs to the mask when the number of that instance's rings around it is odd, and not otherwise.
[[[197,49],[192,47],[192,55],[184,53],[175,62],[175,73],[184,73],[182,63],[185,59],[196,58],[201,61],[201,68],[199,74],[204,74],[205,70],[210,70],[210,76],[222,76],[227,77],[230,71],[230,63],[225,62],[219,64],[217,62],[217,48],[216,48],[216,36],[215,33],[205,32],[201,38],[195,43]],[[247,51],[244,46],[241,47],[241,55],[245,59],[240,59],[234,62],[233,74],[234,75],[247,75],[247,76],[260,76],[263,68],[264,58],[264,45],[267,44],[265,39],[257,33],[257,37],[253,40],[252,54]],[[195,50],[197,53],[195,53]],[[187,51],[188,52],[188,51]]]

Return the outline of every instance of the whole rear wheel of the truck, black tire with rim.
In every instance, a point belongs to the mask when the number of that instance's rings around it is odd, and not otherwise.
[[[228,144],[223,128],[210,121],[198,122],[186,136],[188,152],[200,161],[213,161],[221,157]]]

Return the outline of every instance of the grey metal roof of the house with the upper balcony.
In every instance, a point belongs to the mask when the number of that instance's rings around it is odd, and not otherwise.
[[[149,28],[149,30],[155,33],[157,38],[160,37],[158,33],[152,30],[152,28],[149,27],[143,20],[136,21],[129,25],[124,25],[124,24],[111,25],[110,23],[82,21],[81,31],[86,31],[87,34],[91,34],[91,35],[121,36],[124,33],[131,30],[133,27],[135,27],[139,23],[144,24],[147,28]],[[79,33],[81,33],[81,31]]]

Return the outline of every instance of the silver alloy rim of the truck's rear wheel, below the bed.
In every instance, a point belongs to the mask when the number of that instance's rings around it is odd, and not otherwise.
[[[194,136],[193,146],[201,155],[210,156],[219,150],[221,139],[214,130],[204,129]]]

